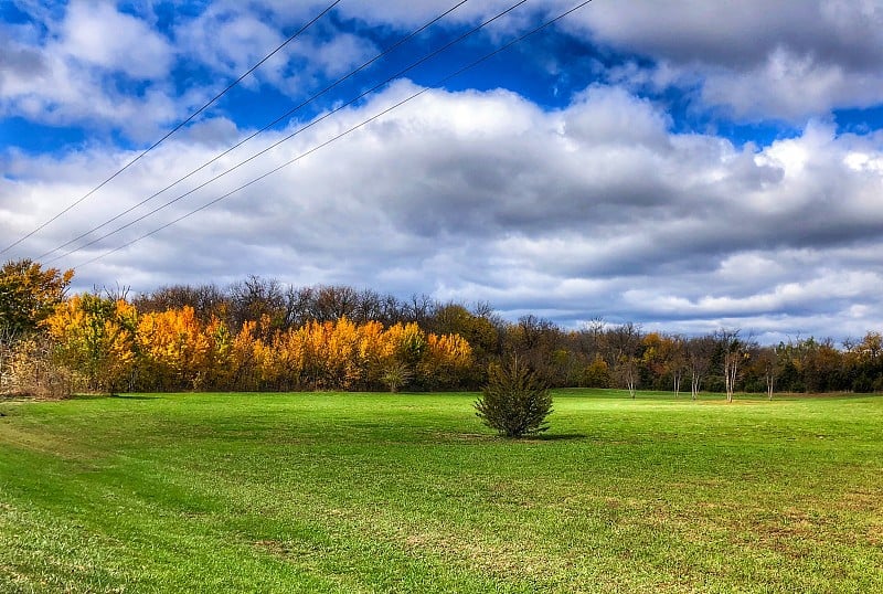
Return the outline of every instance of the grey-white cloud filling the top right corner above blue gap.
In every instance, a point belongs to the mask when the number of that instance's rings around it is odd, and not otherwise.
[[[679,0],[664,10],[625,0],[589,4],[566,25],[653,62],[649,72],[632,62],[620,76],[698,85],[704,105],[742,120],[802,123],[879,105],[883,93],[883,7],[871,0]]]

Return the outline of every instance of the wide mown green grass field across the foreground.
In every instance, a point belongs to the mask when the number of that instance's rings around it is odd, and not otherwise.
[[[0,592],[883,592],[883,399],[0,402]]]

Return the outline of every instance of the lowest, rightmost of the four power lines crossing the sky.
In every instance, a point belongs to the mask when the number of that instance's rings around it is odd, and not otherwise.
[[[251,181],[240,185],[238,188],[236,188],[234,190],[231,190],[230,192],[227,192],[227,193],[225,193],[223,195],[220,195],[220,197],[206,202],[202,206],[200,206],[198,209],[194,209],[194,210],[192,210],[192,211],[190,211],[190,212],[188,212],[188,213],[185,213],[185,214],[183,214],[183,215],[181,215],[181,216],[179,216],[179,218],[177,218],[177,219],[174,219],[174,220],[172,220],[172,221],[170,221],[170,222],[168,222],[168,223],[166,223],[166,224],[163,224],[163,225],[161,225],[159,227],[153,229],[152,231],[149,231],[149,232],[145,233],[143,235],[141,235],[139,237],[136,237],[135,240],[131,240],[131,241],[129,241],[129,242],[127,242],[127,243],[125,243],[125,244],[123,244],[123,245],[120,245],[118,247],[115,247],[114,250],[110,250],[108,252],[99,254],[98,256],[95,256],[95,257],[93,257],[91,259],[87,259],[87,261],[78,264],[74,268],[82,268],[83,266],[86,266],[88,264],[93,264],[93,263],[95,263],[95,262],[97,262],[97,261],[99,261],[99,259],[102,259],[104,257],[109,256],[110,254],[119,252],[120,250],[125,250],[126,247],[129,247],[130,245],[132,245],[135,243],[138,243],[141,240],[146,240],[147,237],[149,237],[151,235],[155,235],[156,233],[159,233],[160,231],[163,231],[163,230],[166,230],[166,229],[168,229],[168,227],[170,227],[170,226],[172,226],[172,225],[174,225],[177,223],[180,223],[184,219],[188,219],[188,218],[190,218],[190,216],[192,216],[192,215],[194,215],[194,214],[208,209],[209,206],[212,206],[212,205],[221,202],[222,200],[225,200],[225,199],[230,198],[231,195],[233,195],[233,194],[235,194],[235,193],[248,188],[249,185],[253,185],[253,184],[257,183],[258,181],[262,181],[262,180],[268,178],[269,176],[273,176],[274,173],[280,171],[281,169],[284,169],[284,168],[286,168],[286,167],[288,167],[288,166],[290,166],[290,165],[292,165],[292,163],[295,163],[295,162],[297,162],[297,161],[299,161],[299,160],[301,160],[301,159],[304,159],[304,158],[317,152],[318,150],[321,150],[322,148],[327,147],[328,145],[330,145],[332,142],[336,142],[337,140],[343,138],[344,136],[348,136],[349,134],[351,134],[351,132],[353,132],[353,131],[366,126],[368,124],[370,124],[370,123],[383,117],[384,115],[393,112],[394,109],[397,109],[398,107],[405,105],[406,103],[419,97],[421,95],[423,95],[423,94],[427,93],[428,91],[430,91],[432,87],[442,86],[445,83],[447,83],[448,81],[450,81],[451,78],[455,78],[455,77],[461,75],[462,73],[465,73],[465,72],[467,72],[467,71],[469,71],[469,70],[471,70],[471,68],[474,68],[476,66],[478,66],[479,64],[481,64],[481,63],[490,60],[491,57],[498,55],[499,53],[508,50],[512,45],[515,45],[517,43],[521,43],[522,41],[524,41],[525,39],[530,38],[531,35],[536,34],[538,32],[542,31],[543,29],[546,29],[547,26],[550,26],[550,25],[556,23],[557,21],[568,17],[570,14],[576,12],[577,10],[586,7],[587,4],[592,3],[592,1],[593,0],[584,0],[583,2],[581,2],[581,3],[576,4],[576,6],[574,6],[573,8],[571,8],[570,10],[566,10],[566,11],[562,12],[557,17],[545,21],[544,23],[542,23],[541,25],[536,26],[535,29],[532,29],[531,31],[522,34],[519,38],[515,38],[514,40],[506,43],[504,45],[498,47],[497,50],[494,50],[494,51],[492,51],[492,52],[490,52],[488,54],[485,54],[483,56],[479,57],[478,60],[476,60],[476,61],[474,61],[474,62],[471,62],[469,64],[467,64],[466,66],[462,66],[461,68],[459,68],[458,71],[454,72],[453,74],[449,74],[449,75],[445,76],[444,78],[440,78],[439,81],[437,81],[436,83],[434,83],[429,87],[424,87],[423,89],[418,91],[417,93],[414,93],[414,94],[409,95],[408,97],[406,97],[406,98],[400,100],[398,103],[387,107],[386,109],[383,109],[382,112],[371,116],[370,118],[357,124],[355,126],[352,126],[351,128],[348,128],[347,130],[338,134],[337,136],[330,138],[329,140],[326,140],[325,142],[322,142],[320,145],[317,145],[316,147],[311,148],[310,150],[298,155],[294,159],[290,159],[289,161],[286,161],[285,163],[283,163],[283,165],[280,165],[280,166],[278,166],[278,167],[276,167],[276,168],[263,173],[262,176],[259,176],[257,178],[252,179]],[[512,8],[514,8],[514,7],[512,7]]]

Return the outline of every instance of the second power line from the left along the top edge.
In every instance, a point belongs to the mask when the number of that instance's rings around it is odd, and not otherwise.
[[[325,88],[322,88],[322,89],[321,89],[321,91],[319,91],[318,93],[316,93],[316,94],[313,94],[312,96],[310,96],[310,97],[309,97],[308,99],[306,99],[305,102],[302,102],[302,103],[300,103],[299,105],[296,105],[296,106],[295,106],[295,107],[292,107],[291,109],[287,110],[285,114],[280,115],[279,117],[277,117],[276,119],[274,119],[274,120],[273,120],[273,121],[270,121],[269,124],[265,125],[265,126],[264,126],[263,128],[260,128],[259,130],[257,130],[257,131],[253,132],[252,135],[247,136],[246,138],[244,138],[244,139],[240,140],[238,142],[236,142],[235,145],[233,145],[233,146],[232,146],[232,147],[230,147],[228,149],[226,149],[226,150],[224,150],[223,152],[221,152],[221,153],[216,155],[215,157],[213,157],[211,160],[209,160],[209,161],[205,161],[204,163],[202,163],[202,165],[201,165],[200,167],[198,167],[196,169],[193,169],[192,171],[190,171],[190,172],[189,172],[189,173],[187,173],[185,176],[178,178],[178,179],[177,179],[175,181],[173,181],[172,183],[170,183],[170,184],[166,185],[166,187],[164,187],[164,188],[162,188],[161,190],[158,190],[158,191],[156,191],[155,193],[150,194],[149,197],[147,197],[146,199],[141,200],[141,201],[140,201],[140,202],[138,202],[137,204],[135,204],[135,205],[132,205],[132,206],[130,206],[130,208],[126,209],[125,211],[123,211],[123,212],[118,213],[117,215],[115,215],[115,216],[113,216],[113,218],[108,219],[108,220],[107,220],[107,221],[105,221],[104,223],[102,223],[102,224],[99,224],[99,225],[97,225],[97,226],[95,226],[95,227],[92,227],[91,230],[88,230],[88,231],[86,231],[86,232],[84,232],[84,233],[82,233],[82,234],[77,235],[77,236],[76,236],[76,237],[74,237],[73,240],[70,240],[70,241],[67,241],[67,242],[63,243],[62,245],[60,245],[60,246],[57,246],[57,247],[54,247],[54,248],[50,250],[49,252],[45,252],[45,253],[43,253],[42,255],[38,256],[38,257],[36,257],[36,259],[38,259],[39,262],[40,262],[40,261],[44,261],[46,257],[51,256],[51,255],[52,255],[52,254],[54,254],[55,252],[57,252],[57,251],[60,251],[60,250],[64,250],[64,248],[65,248],[65,247],[67,247],[68,245],[73,244],[73,243],[76,243],[76,242],[78,242],[79,240],[82,240],[82,238],[84,238],[84,237],[86,237],[86,236],[88,236],[88,235],[92,235],[92,234],[93,234],[93,233],[95,233],[96,231],[98,231],[98,230],[100,230],[100,229],[103,229],[103,227],[105,227],[105,226],[109,225],[109,224],[110,224],[110,223],[113,223],[114,221],[118,221],[118,220],[119,220],[119,219],[121,219],[123,216],[125,216],[125,215],[129,214],[130,212],[132,212],[132,211],[135,211],[135,210],[139,209],[140,206],[142,206],[142,205],[147,204],[148,202],[150,202],[150,201],[151,201],[151,200],[153,200],[155,198],[159,197],[160,194],[162,194],[162,193],[164,193],[164,192],[167,192],[167,191],[171,190],[172,188],[174,188],[175,185],[178,185],[178,184],[179,184],[179,183],[181,183],[182,181],[184,181],[184,180],[187,180],[187,179],[189,179],[189,178],[191,178],[191,177],[195,176],[196,173],[199,173],[200,171],[202,171],[203,169],[205,169],[205,168],[206,168],[206,167],[209,167],[210,165],[212,165],[212,163],[216,162],[219,159],[222,159],[222,158],[226,157],[227,155],[230,155],[231,152],[233,152],[234,150],[236,150],[237,148],[240,148],[240,147],[241,147],[241,146],[243,146],[244,144],[246,144],[246,142],[248,142],[249,140],[254,139],[256,136],[258,136],[258,135],[260,135],[260,134],[263,134],[263,132],[267,131],[268,129],[273,128],[274,126],[276,126],[276,125],[277,125],[277,124],[279,124],[280,121],[283,121],[283,120],[287,119],[288,117],[290,117],[290,116],[291,116],[291,115],[294,115],[295,113],[299,112],[300,109],[302,109],[302,108],[304,108],[304,107],[306,107],[307,105],[311,104],[312,102],[315,102],[316,99],[318,99],[319,97],[321,97],[322,95],[325,95],[326,93],[328,93],[329,91],[331,91],[331,89],[336,88],[337,86],[339,86],[340,84],[342,84],[342,83],[343,83],[343,82],[345,82],[347,79],[351,78],[351,77],[352,77],[352,76],[354,76],[355,74],[358,74],[358,73],[360,73],[361,71],[365,70],[368,66],[370,66],[371,64],[373,64],[373,63],[374,63],[374,62],[376,62],[377,60],[381,60],[381,59],[382,59],[382,57],[384,57],[385,55],[389,55],[390,53],[392,53],[393,51],[395,51],[397,47],[402,46],[404,43],[406,43],[406,42],[407,42],[407,41],[409,41],[411,39],[415,38],[416,35],[418,35],[419,33],[422,33],[423,31],[425,31],[425,30],[426,30],[426,29],[428,29],[429,26],[434,25],[435,23],[437,23],[438,21],[440,21],[442,19],[444,19],[445,17],[447,17],[448,14],[450,14],[451,12],[454,12],[455,10],[457,10],[458,8],[460,8],[462,4],[465,4],[465,3],[466,3],[466,2],[468,2],[468,1],[469,1],[469,0],[460,0],[459,2],[457,2],[456,4],[454,4],[453,7],[450,7],[448,10],[446,10],[446,11],[445,11],[445,12],[443,12],[442,14],[439,14],[439,15],[438,15],[438,17],[436,17],[435,19],[433,19],[433,20],[428,21],[426,24],[424,24],[423,26],[421,26],[421,28],[416,29],[416,30],[415,30],[415,31],[413,31],[412,33],[408,33],[408,34],[407,34],[407,35],[405,35],[404,38],[400,39],[400,40],[398,40],[398,41],[396,41],[394,44],[392,44],[391,46],[389,46],[386,50],[384,50],[383,52],[379,53],[377,55],[375,55],[374,57],[372,57],[372,59],[371,59],[371,60],[369,60],[368,62],[363,63],[361,66],[359,66],[359,67],[357,67],[357,68],[354,68],[354,70],[350,71],[350,73],[349,73],[349,74],[347,74],[347,75],[344,75],[344,76],[342,76],[342,77],[338,78],[338,79],[337,79],[337,81],[334,81],[332,84],[330,84],[330,85],[326,86]],[[213,180],[210,180],[210,181],[213,181]],[[103,237],[100,237],[98,241],[100,241],[102,238],[105,238],[105,237],[106,237],[106,236],[103,236]],[[86,244],[86,245],[91,245],[91,244]],[[85,246],[83,246],[83,247],[85,247]],[[71,254],[71,253],[72,253],[72,252],[67,252],[66,254],[63,254],[63,255],[62,255],[62,256],[60,256],[60,257],[64,257],[64,256],[66,256],[66,255],[68,255],[68,254]],[[58,258],[53,258],[52,261],[49,261],[49,262],[54,262],[55,259],[58,259]]]

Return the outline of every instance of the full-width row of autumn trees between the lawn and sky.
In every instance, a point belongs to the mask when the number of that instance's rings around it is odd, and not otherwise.
[[[66,295],[72,274],[30,261],[0,271],[6,391],[476,389],[515,356],[552,386],[700,391],[883,390],[883,339],[868,332],[759,346],[737,329],[684,337],[594,320],[577,330],[487,304],[398,299],[345,286],[249,277]]]

